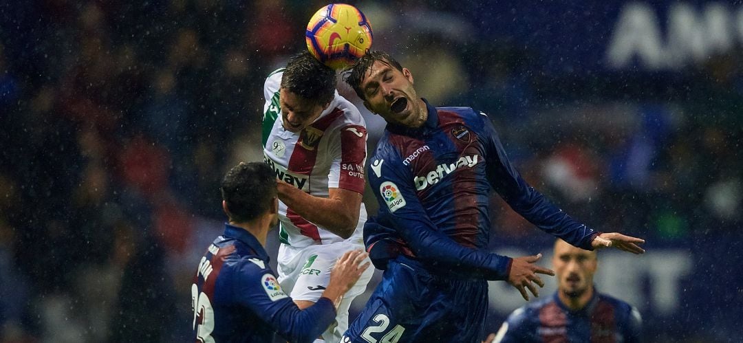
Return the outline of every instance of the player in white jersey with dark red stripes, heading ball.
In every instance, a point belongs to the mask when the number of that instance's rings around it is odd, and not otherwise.
[[[336,85],[335,71],[304,51],[271,73],[264,88],[263,155],[280,200],[279,282],[300,308],[317,301],[343,252],[363,248],[366,126]],[[345,295],[321,339],[340,340],[348,307],[373,273]]]

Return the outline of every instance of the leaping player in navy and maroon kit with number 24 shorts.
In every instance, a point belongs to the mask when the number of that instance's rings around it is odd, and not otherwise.
[[[341,342],[480,342],[487,280],[505,280],[527,300],[528,291],[538,296],[538,274],[554,275],[534,264],[541,254],[509,258],[485,250],[491,189],[574,246],[644,252],[642,239],[596,232],[550,203],[511,165],[487,116],[429,105],[412,73],[389,54],[367,53],[347,82],[388,122],[369,159],[380,211],[364,228],[371,261],[385,271]]]

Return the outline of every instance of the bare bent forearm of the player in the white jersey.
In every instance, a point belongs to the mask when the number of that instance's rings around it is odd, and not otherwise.
[[[279,200],[290,209],[317,226],[322,226],[341,238],[351,237],[359,220],[359,207],[342,200],[314,197],[279,183]]]

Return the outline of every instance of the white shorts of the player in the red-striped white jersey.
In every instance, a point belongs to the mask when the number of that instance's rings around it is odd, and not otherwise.
[[[279,284],[292,300],[317,302],[325,287],[330,281],[330,272],[335,261],[345,252],[353,249],[363,249],[362,244],[353,244],[341,241],[332,244],[322,244],[297,248],[288,244],[279,246],[279,256],[276,258],[279,272]],[[366,258],[369,261],[369,258]],[[362,263],[363,264],[363,263]],[[369,284],[374,275],[374,267],[369,268],[356,281],[354,287],[343,295],[343,301],[337,310],[335,323],[322,333],[325,342],[339,342],[343,333],[348,329],[348,308],[351,301],[364,293],[366,284]]]

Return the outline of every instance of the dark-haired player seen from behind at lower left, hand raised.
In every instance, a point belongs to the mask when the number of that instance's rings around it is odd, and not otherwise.
[[[343,294],[369,269],[369,262],[362,264],[363,250],[346,252],[322,296],[299,309],[279,287],[264,249],[279,212],[275,179],[265,163],[239,163],[224,176],[222,208],[229,222],[194,277],[193,342],[273,342],[274,333],[312,342],[334,321]]]

